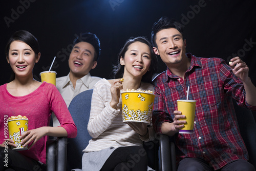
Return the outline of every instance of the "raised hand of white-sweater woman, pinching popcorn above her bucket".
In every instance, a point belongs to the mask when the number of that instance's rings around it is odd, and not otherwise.
[[[119,79],[113,80],[110,88],[111,97],[112,97],[110,106],[114,109],[117,108],[117,104],[119,103],[121,89],[123,89],[122,82]]]

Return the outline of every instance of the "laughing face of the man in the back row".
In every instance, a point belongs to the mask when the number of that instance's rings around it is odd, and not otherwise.
[[[93,61],[95,55],[94,47],[87,42],[79,42],[73,47],[69,56],[70,74],[77,78],[82,78],[97,65]]]

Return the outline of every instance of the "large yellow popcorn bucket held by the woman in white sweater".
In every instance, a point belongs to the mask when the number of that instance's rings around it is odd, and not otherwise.
[[[140,91],[124,91],[122,96],[123,122],[151,123],[155,94]]]

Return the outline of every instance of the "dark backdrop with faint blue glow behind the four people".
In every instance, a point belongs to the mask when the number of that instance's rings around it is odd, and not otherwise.
[[[256,3],[255,1],[213,0],[2,0],[0,85],[7,83],[11,68],[5,45],[17,30],[28,30],[37,37],[41,59],[34,67],[34,78],[48,70],[57,77],[69,73],[68,58],[76,35],[95,33],[101,43],[97,67],[90,73],[110,79],[112,65],[125,41],[131,36],[147,36],[161,16],[173,17],[184,25],[186,52],[201,57],[218,57],[227,63],[239,55],[249,66],[249,77],[256,85]],[[166,69],[159,59],[158,72]]]

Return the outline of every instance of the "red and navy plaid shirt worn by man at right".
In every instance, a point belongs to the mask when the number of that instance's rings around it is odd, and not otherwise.
[[[255,110],[245,100],[245,90],[240,79],[224,60],[219,58],[197,58],[187,53],[191,65],[184,80],[167,68],[153,81],[155,104],[153,126],[161,134],[163,122],[173,122],[177,100],[197,100],[193,134],[176,134],[179,159],[200,158],[214,169],[228,162],[248,160],[243,139],[240,135],[232,98],[240,106]]]

